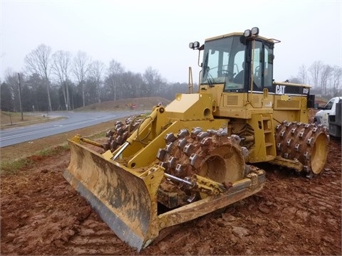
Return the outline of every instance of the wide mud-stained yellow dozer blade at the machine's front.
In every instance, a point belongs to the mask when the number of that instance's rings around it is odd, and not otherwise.
[[[71,161],[63,176],[96,210],[118,238],[138,251],[154,240],[157,188],[164,171],[127,169],[102,154],[71,140]]]

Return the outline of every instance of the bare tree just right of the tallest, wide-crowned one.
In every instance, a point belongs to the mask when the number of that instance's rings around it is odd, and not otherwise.
[[[52,59],[52,70],[61,83],[66,110],[70,110],[71,105],[68,89],[68,76],[70,73],[71,53],[68,51],[58,50],[52,55]]]

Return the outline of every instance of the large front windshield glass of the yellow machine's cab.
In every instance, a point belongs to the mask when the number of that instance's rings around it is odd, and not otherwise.
[[[244,87],[245,46],[240,36],[207,41],[204,46],[202,84],[224,83],[224,90]]]

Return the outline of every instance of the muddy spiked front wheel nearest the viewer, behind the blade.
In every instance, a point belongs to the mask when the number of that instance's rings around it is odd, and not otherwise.
[[[172,135],[167,134],[167,145],[157,154],[166,173],[179,178],[198,174],[226,185],[244,177],[239,137],[228,137],[224,130],[203,132],[198,127],[191,133],[181,130],[177,137]]]

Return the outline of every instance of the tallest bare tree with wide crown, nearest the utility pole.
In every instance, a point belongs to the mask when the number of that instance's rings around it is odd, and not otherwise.
[[[50,71],[51,71],[51,47],[41,44],[31,53],[26,55],[24,61],[26,69],[30,73],[37,73],[46,82],[46,91],[48,94],[48,110],[52,111],[50,97]]]

